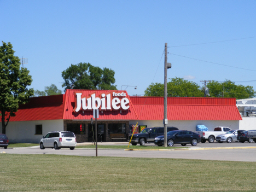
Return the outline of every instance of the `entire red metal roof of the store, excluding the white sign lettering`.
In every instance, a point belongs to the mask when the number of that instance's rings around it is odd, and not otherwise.
[[[76,119],[90,120],[93,113],[79,111],[74,113],[74,92],[82,92],[96,96],[113,91],[108,90],[67,90],[64,95],[32,97],[30,102],[21,105],[16,117],[10,121]],[[128,110],[100,111],[99,120],[162,120],[164,117],[164,97],[126,97],[130,100]],[[168,120],[242,120],[236,107],[235,98],[199,98],[199,97],[168,97]],[[0,120],[1,121],[1,120]]]

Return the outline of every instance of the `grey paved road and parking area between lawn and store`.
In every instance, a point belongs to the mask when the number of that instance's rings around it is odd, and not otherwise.
[[[91,143],[88,143],[91,144]],[[128,144],[128,143],[98,143],[101,144]],[[152,145],[152,143],[146,144]],[[174,145],[174,147],[181,145]],[[124,149],[98,149],[98,156],[118,156],[127,158],[174,158],[174,159],[201,159],[224,161],[251,161],[256,162],[256,143],[199,143],[197,146],[188,144],[185,150],[124,150]],[[166,149],[171,149],[167,147]],[[0,148],[0,152],[8,154],[57,154],[96,156],[95,149],[60,149],[38,147],[31,148]],[[0,154],[1,155],[1,154]]]

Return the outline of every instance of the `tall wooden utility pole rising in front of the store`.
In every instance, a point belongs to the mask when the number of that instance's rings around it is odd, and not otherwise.
[[[167,147],[167,43],[165,43],[164,147]]]

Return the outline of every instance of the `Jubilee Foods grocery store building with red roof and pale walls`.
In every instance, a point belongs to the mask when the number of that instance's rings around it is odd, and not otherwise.
[[[98,109],[98,142],[127,141],[144,127],[164,126],[164,97],[135,97],[126,91],[66,90],[63,95],[31,97],[6,128],[9,142],[39,143],[50,131],[73,131],[77,142],[93,142],[93,110]],[[195,131],[205,125],[239,129],[235,98],[168,97],[167,126]],[[93,121],[95,123],[95,119]],[[135,125],[138,123],[138,126]],[[0,125],[2,132],[2,125]]]

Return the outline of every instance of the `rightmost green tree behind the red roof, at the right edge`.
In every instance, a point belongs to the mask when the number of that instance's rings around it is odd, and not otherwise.
[[[209,89],[210,97],[236,98],[239,100],[253,98],[256,94],[252,86],[235,85],[230,80],[225,80],[222,83],[212,81],[207,84],[207,88]]]

